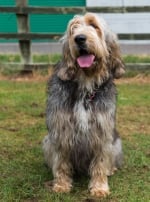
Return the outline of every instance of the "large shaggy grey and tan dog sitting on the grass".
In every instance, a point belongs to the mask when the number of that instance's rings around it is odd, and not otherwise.
[[[89,191],[109,194],[108,176],[122,165],[116,130],[116,87],[125,67],[118,39],[103,18],[75,16],[62,39],[62,59],[48,81],[43,140],[53,191],[69,192],[74,173],[90,175]]]

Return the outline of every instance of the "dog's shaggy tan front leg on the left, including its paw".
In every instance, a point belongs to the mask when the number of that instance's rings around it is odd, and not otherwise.
[[[71,164],[68,155],[62,153],[56,153],[53,161],[53,191],[55,192],[69,192],[72,187]]]

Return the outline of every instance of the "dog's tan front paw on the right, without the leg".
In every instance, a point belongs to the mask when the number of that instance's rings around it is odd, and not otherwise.
[[[108,184],[98,184],[90,188],[90,194],[95,197],[106,197],[110,194]]]

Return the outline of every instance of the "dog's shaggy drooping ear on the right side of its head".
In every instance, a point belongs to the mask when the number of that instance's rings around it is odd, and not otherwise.
[[[119,79],[125,73],[125,65],[121,58],[121,51],[117,41],[117,37],[111,33],[111,36],[106,40],[106,44],[109,51],[108,66],[113,78]]]

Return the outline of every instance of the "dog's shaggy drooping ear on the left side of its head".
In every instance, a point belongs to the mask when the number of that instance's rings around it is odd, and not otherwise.
[[[69,42],[67,40],[67,36],[64,36],[63,38],[62,50],[63,50],[62,60],[59,63],[57,76],[63,81],[72,80],[75,77],[76,68],[72,56],[70,54]]]

